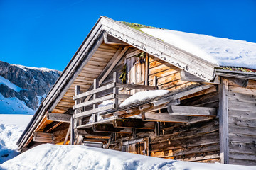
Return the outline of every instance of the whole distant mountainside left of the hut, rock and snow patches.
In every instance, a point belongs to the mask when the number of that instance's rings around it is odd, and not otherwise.
[[[0,61],[0,114],[33,114],[61,72]]]

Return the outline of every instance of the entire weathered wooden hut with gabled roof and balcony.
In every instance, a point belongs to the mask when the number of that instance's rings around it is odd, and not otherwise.
[[[221,67],[138,28],[151,27],[101,16],[18,148],[89,145],[256,165],[256,70]],[[134,94],[144,98],[120,106]]]

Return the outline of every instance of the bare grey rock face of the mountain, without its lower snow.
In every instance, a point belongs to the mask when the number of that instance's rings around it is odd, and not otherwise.
[[[0,93],[5,98],[16,97],[36,110],[60,74],[58,70],[24,67],[0,61],[0,76],[19,88],[16,90],[0,82]]]

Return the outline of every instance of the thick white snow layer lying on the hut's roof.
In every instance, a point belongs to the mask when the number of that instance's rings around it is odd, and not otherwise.
[[[256,69],[256,43],[176,30],[141,28],[149,35],[213,64]]]

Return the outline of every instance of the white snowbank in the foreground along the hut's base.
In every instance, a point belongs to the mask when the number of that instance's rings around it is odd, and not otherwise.
[[[255,169],[256,166],[234,166],[177,162],[170,159],[146,157],[110,149],[82,145],[39,145],[18,155],[0,169]]]

